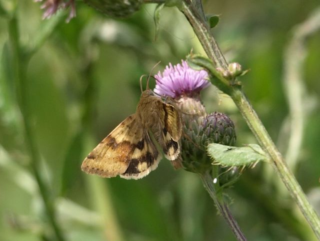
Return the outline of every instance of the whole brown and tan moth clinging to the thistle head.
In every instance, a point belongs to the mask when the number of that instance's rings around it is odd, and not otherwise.
[[[147,87],[141,93],[136,112],[89,153],[81,170],[105,178],[119,175],[125,179],[140,179],[156,169],[162,158],[153,140],[159,144],[165,158],[173,161],[179,156],[180,137],[179,112]]]

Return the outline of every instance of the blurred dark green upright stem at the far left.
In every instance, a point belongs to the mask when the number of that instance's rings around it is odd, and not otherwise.
[[[14,80],[16,84],[16,98],[20,107],[20,111],[22,114],[22,121],[24,125],[24,136],[27,150],[30,155],[30,165],[31,169],[34,173],[36,182],[39,187],[40,195],[42,197],[45,211],[48,217],[48,220],[52,226],[52,229],[55,233],[56,239],[59,241],[64,241],[64,237],[58,226],[55,219],[55,210],[54,203],[52,198],[49,195],[48,189],[46,187],[45,182],[41,177],[40,172],[40,156],[37,151],[37,147],[35,144],[35,138],[32,131],[32,125],[30,122],[30,113],[27,102],[27,84],[26,84],[26,70],[28,57],[23,54],[21,51],[21,46],[19,44],[19,33],[17,26],[17,19],[13,16],[8,21],[8,31],[9,31],[9,43],[10,50],[12,53],[12,70],[14,72]]]

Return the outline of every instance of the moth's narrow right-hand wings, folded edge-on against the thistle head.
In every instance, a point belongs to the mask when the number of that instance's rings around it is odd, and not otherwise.
[[[160,130],[158,142],[162,147],[164,156],[168,160],[177,159],[180,148],[179,139],[181,137],[181,116],[173,105],[161,102],[159,111]]]

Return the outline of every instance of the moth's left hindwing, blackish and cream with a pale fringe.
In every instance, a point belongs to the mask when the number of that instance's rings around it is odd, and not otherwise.
[[[148,132],[144,131],[131,155],[128,168],[120,177],[125,179],[143,178],[157,168],[160,160],[161,155],[159,155]]]

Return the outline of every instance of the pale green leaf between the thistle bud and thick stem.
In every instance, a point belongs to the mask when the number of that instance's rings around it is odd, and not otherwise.
[[[212,143],[207,147],[207,154],[214,162],[223,166],[247,166],[259,161],[268,161],[267,155],[256,144],[231,147]]]

